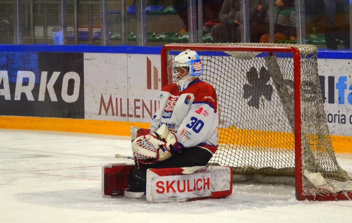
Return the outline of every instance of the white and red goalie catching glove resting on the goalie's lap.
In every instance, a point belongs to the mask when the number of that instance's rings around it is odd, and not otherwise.
[[[137,137],[132,142],[132,154],[141,163],[156,163],[174,155],[176,142],[175,134],[163,124],[156,132]]]

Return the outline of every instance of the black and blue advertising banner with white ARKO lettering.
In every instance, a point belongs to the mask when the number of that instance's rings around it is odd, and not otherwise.
[[[83,53],[0,54],[0,115],[84,118]]]

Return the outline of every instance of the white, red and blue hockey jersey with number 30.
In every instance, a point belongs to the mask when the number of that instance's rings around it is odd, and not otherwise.
[[[182,92],[176,83],[161,89],[160,107],[149,129],[156,131],[163,123],[177,137],[177,151],[184,147],[201,147],[210,153],[218,148],[219,118],[216,92],[212,85],[196,79]]]

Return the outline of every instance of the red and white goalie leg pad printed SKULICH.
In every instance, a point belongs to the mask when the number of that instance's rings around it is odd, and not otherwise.
[[[232,169],[224,166],[147,170],[148,202],[225,198],[232,194]]]

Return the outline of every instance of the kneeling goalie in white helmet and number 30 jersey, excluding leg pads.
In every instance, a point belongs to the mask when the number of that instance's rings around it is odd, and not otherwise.
[[[172,64],[176,83],[162,88],[149,130],[131,127],[137,162],[128,177],[126,197],[145,192],[147,169],[206,166],[217,150],[216,92],[199,79],[202,73],[198,54],[181,52]]]

